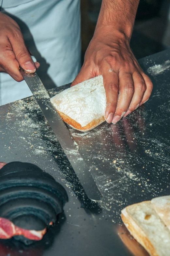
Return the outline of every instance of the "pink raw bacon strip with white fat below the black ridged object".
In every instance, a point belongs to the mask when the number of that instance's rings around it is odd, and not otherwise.
[[[14,235],[23,235],[30,240],[41,240],[47,229],[40,231],[26,230],[15,226],[10,220],[0,217],[0,239],[8,239]]]

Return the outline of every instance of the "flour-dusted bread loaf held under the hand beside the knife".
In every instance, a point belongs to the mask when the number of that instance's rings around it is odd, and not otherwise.
[[[89,131],[105,121],[103,77],[97,76],[68,88],[51,99],[63,121],[79,131]]]

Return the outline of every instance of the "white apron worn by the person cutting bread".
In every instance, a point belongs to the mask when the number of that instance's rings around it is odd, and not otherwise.
[[[0,0],[1,11],[20,26],[47,89],[74,80],[81,66],[79,0]],[[0,105],[32,93],[25,81],[0,73]]]

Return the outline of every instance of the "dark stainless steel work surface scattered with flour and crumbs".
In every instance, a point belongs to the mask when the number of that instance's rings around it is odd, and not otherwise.
[[[69,195],[64,213],[42,241],[25,247],[13,239],[0,240],[1,256],[133,255],[121,241],[128,233],[120,210],[170,194],[170,50],[140,64],[154,84],[147,103],[117,124],[104,122],[88,132],[68,126],[103,194],[99,203],[85,196],[33,96],[0,107],[0,161],[34,163]]]

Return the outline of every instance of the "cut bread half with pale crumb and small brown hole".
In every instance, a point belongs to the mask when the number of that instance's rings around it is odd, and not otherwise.
[[[122,220],[131,235],[151,256],[170,256],[170,231],[152,207],[151,201],[127,206]]]

